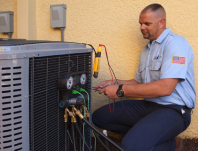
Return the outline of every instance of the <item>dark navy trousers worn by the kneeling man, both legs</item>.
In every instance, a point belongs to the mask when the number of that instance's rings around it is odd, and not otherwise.
[[[126,151],[174,151],[175,137],[191,122],[187,107],[145,100],[116,102],[113,113],[105,105],[92,117],[97,127],[123,135],[121,147]]]

